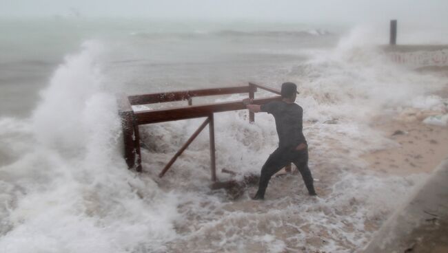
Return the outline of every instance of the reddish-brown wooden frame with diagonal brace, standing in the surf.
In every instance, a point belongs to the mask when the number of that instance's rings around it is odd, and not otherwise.
[[[265,104],[274,100],[281,100],[281,96],[273,96],[269,98],[255,99],[257,88],[280,94],[280,91],[262,85],[249,83],[243,87],[224,87],[216,89],[196,89],[190,91],[173,91],[159,94],[143,94],[134,96],[122,95],[119,98],[119,115],[121,117],[121,125],[123,128],[124,141],[124,157],[129,168],[135,168],[137,171],[142,170],[141,151],[140,151],[140,134],[139,125],[154,124],[160,122],[168,122],[174,120],[187,120],[191,118],[203,118],[205,121],[193,133],[179,151],[170,159],[170,162],[163,168],[159,177],[163,177],[167,170],[170,169],[176,159],[185,151],[185,149],[193,142],[199,133],[209,125],[210,131],[210,168],[211,179],[216,181],[216,159],[214,145],[214,113],[223,111],[236,111],[246,109],[242,100],[232,102],[220,102],[213,104],[193,105],[192,98],[198,96],[217,96],[228,94],[244,94],[247,93],[249,98],[254,99],[254,104]],[[160,102],[174,102],[187,100],[188,105],[184,107],[169,107],[167,109],[134,111],[132,105],[138,104],[154,104]],[[249,121],[254,122],[254,113],[250,113]]]

